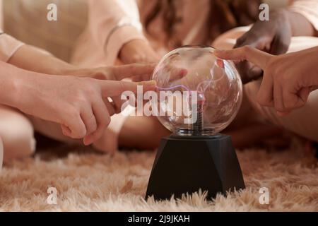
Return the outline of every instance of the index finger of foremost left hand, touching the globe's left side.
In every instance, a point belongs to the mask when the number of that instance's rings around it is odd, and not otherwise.
[[[102,97],[114,97],[122,95],[125,91],[137,93],[138,86],[143,88],[143,92],[155,90],[155,81],[143,81],[139,83],[128,81],[98,81],[102,89]]]

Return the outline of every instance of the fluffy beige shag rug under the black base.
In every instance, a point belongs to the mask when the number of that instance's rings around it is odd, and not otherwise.
[[[0,210],[318,211],[317,160],[302,157],[297,150],[249,149],[237,151],[237,155],[247,186],[244,191],[220,195],[213,201],[206,201],[204,194],[198,193],[181,200],[146,202],[143,196],[154,153],[110,156],[59,146],[4,167],[0,174]],[[47,204],[51,186],[57,189],[57,205]],[[259,203],[259,189],[264,186],[269,188],[269,205]]]

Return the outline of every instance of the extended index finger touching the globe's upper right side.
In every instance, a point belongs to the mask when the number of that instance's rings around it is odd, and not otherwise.
[[[265,69],[269,59],[273,57],[271,54],[263,52],[259,49],[255,49],[248,45],[230,50],[216,49],[214,54],[216,55],[216,57],[219,57],[220,59],[229,59],[236,61],[246,60],[251,62],[252,64],[259,66],[263,70]]]

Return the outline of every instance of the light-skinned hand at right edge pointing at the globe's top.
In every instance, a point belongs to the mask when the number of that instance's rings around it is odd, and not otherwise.
[[[247,60],[264,70],[257,93],[260,105],[275,107],[280,115],[300,108],[318,85],[318,47],[273,56],[252,47],[229,51],[217,50],[217,57],[235,61]]]

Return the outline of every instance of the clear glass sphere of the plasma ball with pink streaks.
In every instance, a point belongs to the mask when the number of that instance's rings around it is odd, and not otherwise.
[[[232,61],[217,58],[214,50],[212,47],[181,47],[166,54],[156,66],[152,79],[157,82],[159,96],[160,91],[197,91],[198,114],[193,124],[184,123],[189,115],[180,115],[175,105],[168,106],[167,99],[158,98],[158,112],[169,112],[158,119],[172,133],[216,135],[231,123],[240,109],[240,75]]]

